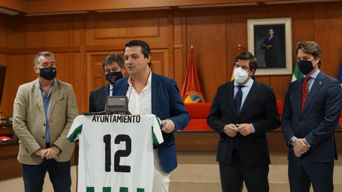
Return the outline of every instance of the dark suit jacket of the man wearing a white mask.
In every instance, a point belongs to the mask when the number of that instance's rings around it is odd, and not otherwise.
[[[231,164],[234,138],[222,133],[227,124],[251,123],[255,133],[235,136],[242,163],[246,166],[261,166],[271,163],[266,132],[280,125],[276,97],[271,86],[258,82],[253,85],[236,116],[234,103],[234,80],[220,85],[211,104],[207,124],[219,135],[216,161]]]

